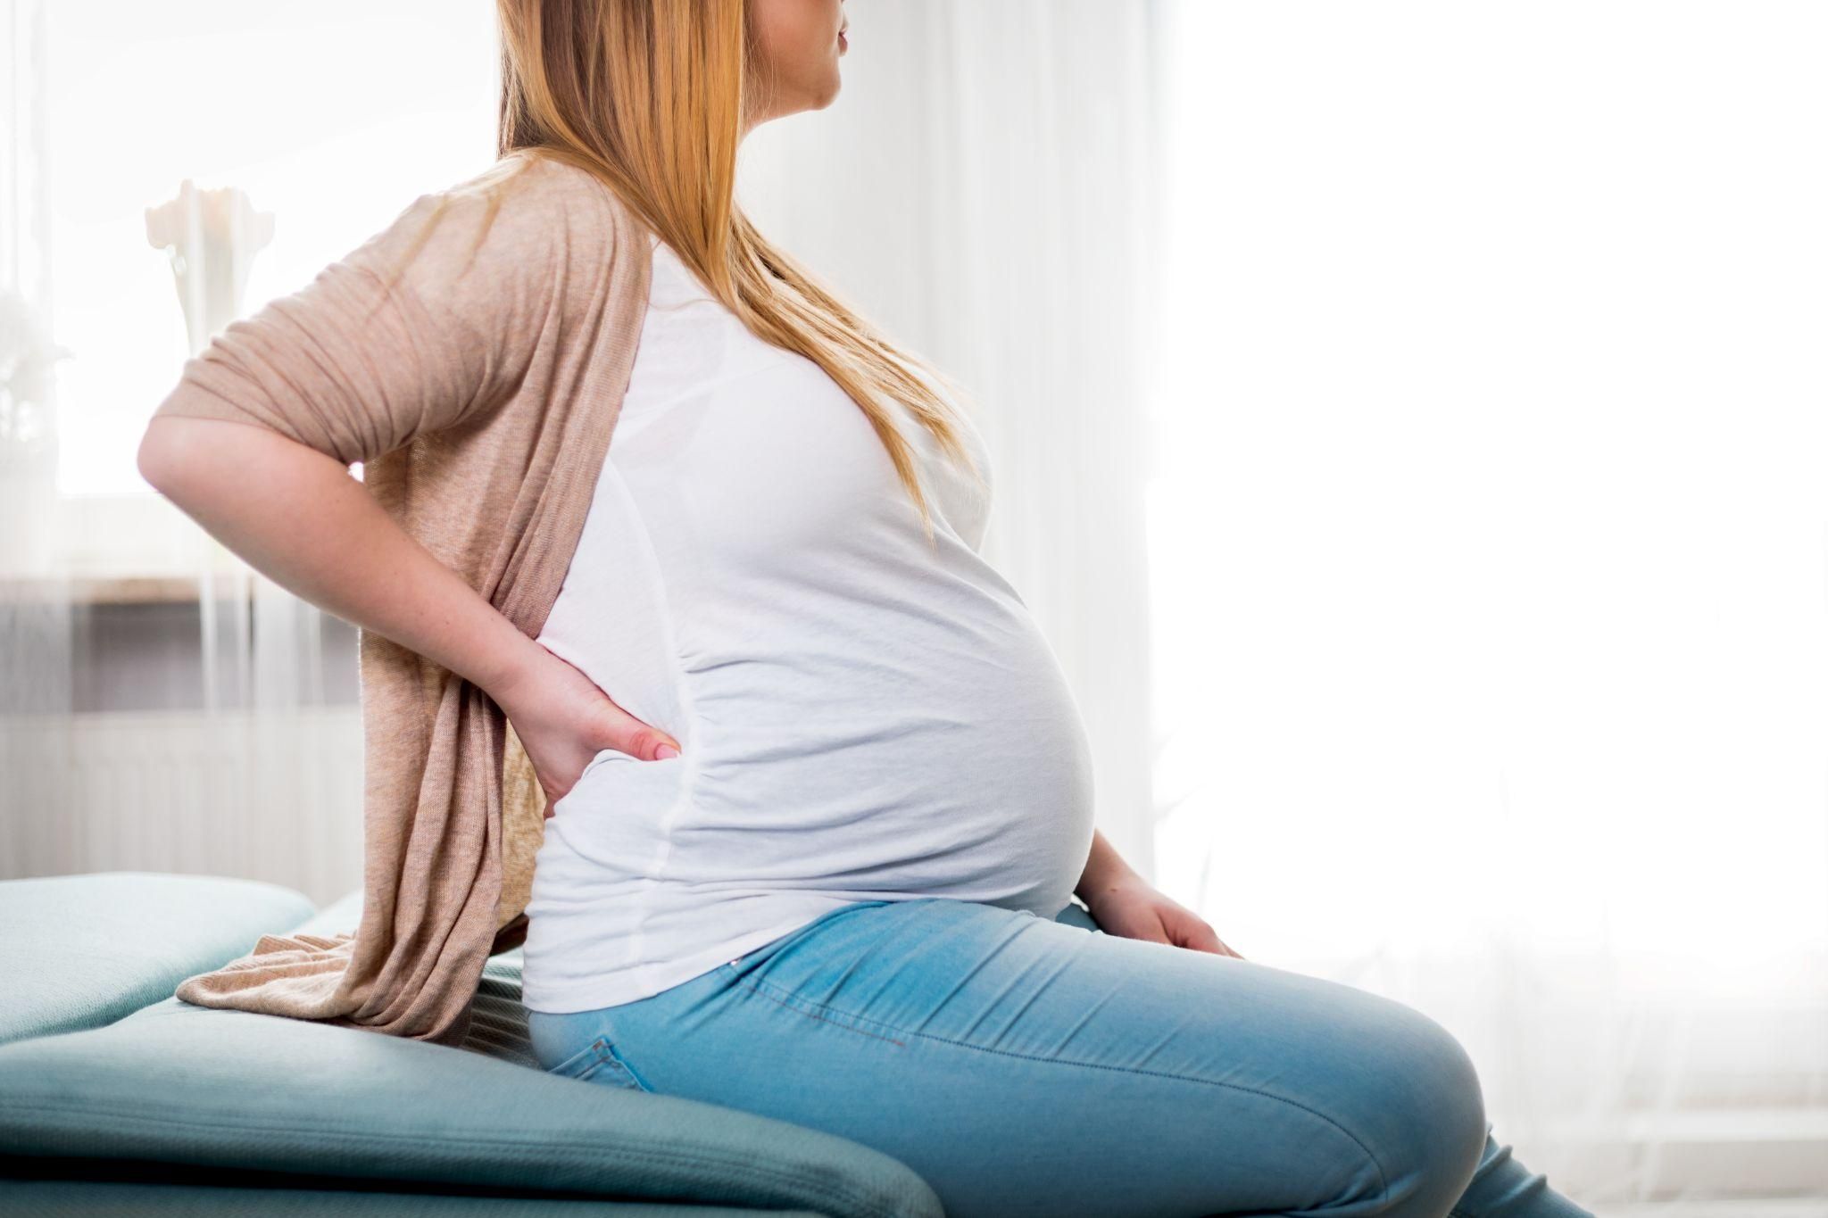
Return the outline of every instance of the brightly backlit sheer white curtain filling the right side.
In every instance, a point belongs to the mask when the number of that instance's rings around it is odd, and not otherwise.
[[[1828,1213],[1828,15],[1166,18],[1163,884],[1601,1214]]]

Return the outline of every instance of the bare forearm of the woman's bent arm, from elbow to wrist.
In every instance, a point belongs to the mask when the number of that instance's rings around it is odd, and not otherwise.
[[[497,701],[537,646],[409,537],[335,457],[249,424],[154,418],[139,471],[276,584]]]

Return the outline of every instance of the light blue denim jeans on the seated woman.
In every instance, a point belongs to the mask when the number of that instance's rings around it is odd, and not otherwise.
[[[923,897],[662,993],[530,1013],[552,1074],[841,1134],[949,1218],[1592,1218],[1492,1138],[1473,1063],[1355,986]]]

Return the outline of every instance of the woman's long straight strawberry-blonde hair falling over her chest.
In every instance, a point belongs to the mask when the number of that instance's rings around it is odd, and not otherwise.
[[[962,387],[892,343],[755,230],[735,201],[744,84],[755,44],[744,0],[497,0],[497,153],[594,173],[757,338],[795,351],[868,416],[932,542],[918,457],[885,400],[971,467],[954,425]],[[494,194],[494,192],[492,192]],[[490,215],[499,206],[492,199]]]

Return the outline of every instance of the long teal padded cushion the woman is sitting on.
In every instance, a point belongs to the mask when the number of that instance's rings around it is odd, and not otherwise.
[[[335,933],[356,919],[351,893],[282,929]],[[488,962],[462,1048],[175,997],[108,1026],[4,1045],[0,1176],[42,1174],[18,1161],[42,1156],[941,1216],[910,1167],[846,1138],[545,1074],[519,999],[515,950]],[[73,1161],[68,1176],[82,1174]]]

